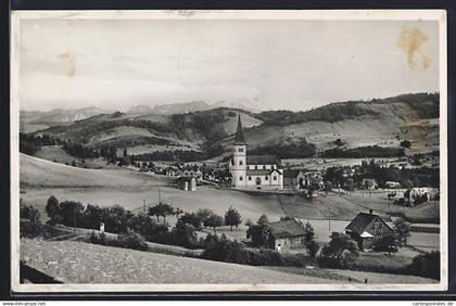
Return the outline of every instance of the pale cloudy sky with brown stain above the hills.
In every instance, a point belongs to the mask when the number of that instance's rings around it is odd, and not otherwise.
[[[258,110],[439,91],[438,22],[23,20],[22,110]]]

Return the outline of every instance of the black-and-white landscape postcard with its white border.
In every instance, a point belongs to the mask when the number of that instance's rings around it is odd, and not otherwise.
[[[446,13],[12,14],[17,292],[447,289]]]

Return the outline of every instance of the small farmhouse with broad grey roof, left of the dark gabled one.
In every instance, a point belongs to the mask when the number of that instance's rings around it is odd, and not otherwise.
[[[305,247],[305,229],[295,219],[269,222],[276,251]]]

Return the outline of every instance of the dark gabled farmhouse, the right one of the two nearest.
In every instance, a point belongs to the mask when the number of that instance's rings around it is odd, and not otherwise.
[[[359,213],[345,228],[345,233],[358,243],[360,251],[369,250],[376,240],[393,230],[378,215]]]

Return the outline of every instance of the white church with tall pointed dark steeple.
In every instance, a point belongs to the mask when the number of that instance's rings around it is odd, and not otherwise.
[[[283,170],[280,158],[274,155],[249,155],[246,146],[239,115],[232,157],[229,163],[231,187],[251,190],[282,190]]]

